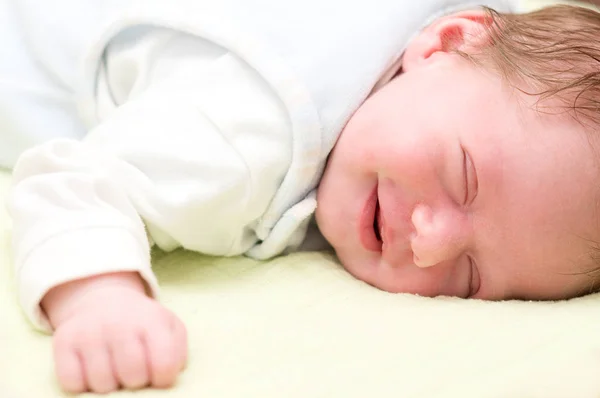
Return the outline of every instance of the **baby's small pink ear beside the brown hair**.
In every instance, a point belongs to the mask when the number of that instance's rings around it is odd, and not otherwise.
[[[435,59],[432,55],[473,47],[492,23],[485,10],[463,11],[442,17],[411,40],[404,52],[402,69],[406,72]]]

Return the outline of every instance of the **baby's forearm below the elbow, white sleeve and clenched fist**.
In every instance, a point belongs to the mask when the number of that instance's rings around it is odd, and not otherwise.
[[[20,302],[36,326],[54,330],[65,390],[166,387],[185,362],[185,328],[146,295],[146,286],[156,295],[157,284],[144,226],[111,178],[123,167],[105,162],[62,141],[27,152],[15,168]]]

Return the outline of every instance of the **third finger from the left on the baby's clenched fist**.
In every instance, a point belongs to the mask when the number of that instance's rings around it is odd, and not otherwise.
[[[146,348],[139,336],[115,339],[111,344],[111,353],[117,377],[123,387],[133,390],[150,384]]]

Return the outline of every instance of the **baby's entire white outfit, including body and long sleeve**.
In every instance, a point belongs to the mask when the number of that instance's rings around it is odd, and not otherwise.
[[[342,127],[411,37],[510,2],[0,0],[0,162],[34,146],[9,198],[29,319],[48,330],[44,294],[100,273],[156,295],[151,244],[294,249]]]

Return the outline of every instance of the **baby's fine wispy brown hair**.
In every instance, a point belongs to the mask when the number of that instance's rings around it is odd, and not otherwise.
[[[536,97],[536,110],[566,114],[589,134],[598,134],[600,12],[567,5],[524,14],[485,10],[489,23],[483,42],[477,41],[475,51],[459,53],[477,65],[491,67],[512,87]],[[590,246],[592,267],[574,272],[590,276],[591,283],[582,294],[600,288],[600,244],[590,242]]]

